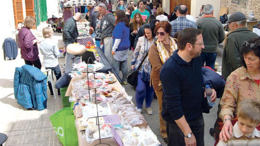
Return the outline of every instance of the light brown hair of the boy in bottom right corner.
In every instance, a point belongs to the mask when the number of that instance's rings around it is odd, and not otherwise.
[[[260,103],[253,99],[245,99],[238,104],[239,118],[248,119],[252,123],[260,123]]]

